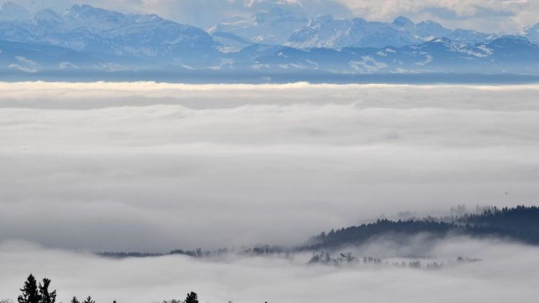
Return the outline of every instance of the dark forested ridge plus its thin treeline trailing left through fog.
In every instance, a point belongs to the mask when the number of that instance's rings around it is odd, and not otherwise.
[[[298,251],[338,250],[345,246],[362,245],[377,237],[385,237],[396,243],[406,244],[411,236],[425,234],[427,240],[437,240],[448,235],[472,237],[498,237],[512,241],[539,245],[539,208],[517,206],[516,208],[479,207],[477,213],[466,213],[465,207],[451,209],[451,215],[444,217],[416,217],[411,212],[399,213],[409,217],[401,220],[381,219],[370,224],[332,229],[314,236],[306,245],[282,248],[272,245],[258,245],[239,251],[221,248],[219,250],[172,250],[169,253],[99,253],[104,257],[159,257],[164,255],[187,255],[189,257],[220,257],[227,253],[240,255],[284,255]]]

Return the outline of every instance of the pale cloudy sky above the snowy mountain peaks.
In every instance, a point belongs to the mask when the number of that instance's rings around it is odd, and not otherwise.
[[[435,20],[448,27],[487,32],[519,32],[539,20],[536,0],[15,0],[32,8],[67,8],[93,4],[119,11],[158,13],[178,22],[211,27],[219,20],[248,15],[274,4],[307,15],[331,13],[368,20],[392,20],[405,15],[415,21]]]

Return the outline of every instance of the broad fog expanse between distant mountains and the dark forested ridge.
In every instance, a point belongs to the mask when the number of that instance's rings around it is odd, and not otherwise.
[[[0,83],[0,241],[297,244],[382,213],[535,204],[538,93]]]

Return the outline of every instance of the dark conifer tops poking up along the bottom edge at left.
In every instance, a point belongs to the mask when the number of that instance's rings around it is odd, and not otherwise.
[[[18,303],[56,303],[56,290],[49,290],[51,280],[44,278],[42,283],[37,283],[36,278],[32,274],[28,276],[24,286],[20,289],[22,294],[18,297]],[[196,292],[189,292],[183,300],[173,299],[164,301],[164,303],[199,303],[199,298]],[[61,302],[59,302],[61,303]],[[70,303],[96,303],[91,296],[79,301],[77,297],[73,297]],[[114,300],[112,303],[117,303]]]

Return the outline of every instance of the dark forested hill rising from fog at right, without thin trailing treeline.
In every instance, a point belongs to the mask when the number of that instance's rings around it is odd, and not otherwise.
[[[299,250],[338,249],[361,245],[377,237],[406,242],[411,236],[425,234],[427,238],[444,238],[449,234],[472,237],[500,237],[527,244],[539,244],[539,208],[485,208],[479,214],[453,217],[427,217],[410,220],[377,220],[371,224],[322,232]]]

